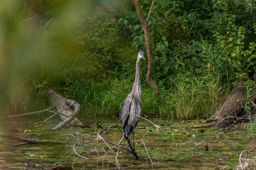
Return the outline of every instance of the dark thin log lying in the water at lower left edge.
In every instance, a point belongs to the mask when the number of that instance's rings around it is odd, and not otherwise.
[[[27,138],[24,138],[24,137],[11,136],[11,135],[5,135],[5,134],[0,134],[0,137],[7,138],[7,139],[12,139],[12,140],[17,140],[17,141],[23,141],[23,142],[27,142],[29,144],[49,144],[49,145],[65,144],[64,142],[60,142],[60,141],[56,141],[56,140],[35,140],[35,139],[27,139]]]

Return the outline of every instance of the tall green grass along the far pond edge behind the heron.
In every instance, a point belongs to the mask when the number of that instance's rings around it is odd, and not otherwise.
[[[71,74],[70,74],[71,75]],[[124,78],[112,72],[109,77],[103,75],[93,80],[90,78],[66,77],[60,92],[67,98],[80,103],[82,113],[98,116],[117,116],[123,100],[132,90],[135,74]],[[161,89],[161,102],[156,92],[142,81],[142,114],[158,114],[170,119],[208,118],[228,97],[229,91],[219,88],[215,80],[208,78],[179,75],[172,81],[173,88]],[[72,77],[72,78],[71,78]]]

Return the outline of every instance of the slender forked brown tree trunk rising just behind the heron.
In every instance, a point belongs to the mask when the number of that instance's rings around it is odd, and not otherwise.
[[[149,14],[148,14],[148,17],[147,17],[147,21],[145,21],[145,18],[143,16],[141,6],[140,6],[140,1],[139,0],[133,0],[133,1],[134,1],[134,5],[136,7],[139,19],[141,21],[141,24],[142,24],[142,27],[143,27],[143,30],[144,30],[144,35],[145,35],[145,44],[146,44],[147,59],[148,59],[148,68],[147,68],[146,81],[153,90],[157,91],[157,96],[158,96],[159,99],[161,99],[160,98],[160,91],[158,89],[158,85],[155,83],[155,81],[152,78],[153,69],[154,69],[154,61],[153,61],[151,44],[150,44],[149,30],[148,30],[148,25],[147,25],[147,22],[149,20],[149,16],[150,16],[150,13],[152,11],[152,7],[153,7],[153,4],[154,4],[155,0],[153,0],[153,2],[151,4],[150,11],[149,11]]]

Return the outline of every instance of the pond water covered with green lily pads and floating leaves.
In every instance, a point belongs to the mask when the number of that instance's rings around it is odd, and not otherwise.
[[[45,117],[46,118],[46,117]],[[2,121],[0,125],[0,133],[9,135],[17,135],[30,139],[38,140],[57,140],[60,134],[75,134],[78,130],[82,134],[86,134],[92,138],[97,134],[100,128],[97,127],[96,121],[92,116],[78,117],[84,125],[91,128],[64,128],[58,131],[51,130],[61,120],[55,117],[41,125],[45,118],[17,118],[8,121]],[[98,118],[99,122],[103,122],[102,126],[108,128],[111,124],[116,124],[116,118]],[[140,156],[139,160],[135,160],[126,150],[121,149],[118,154],[118,162],[124,169],[212,169],[219,165],[227,165],[234,168],[238,165],[239,154],[241,151],[249,150],[251,146],[256,145],[255,136],[251,132],[251,128],[255,131],[255,127],[245,129],[233,129],[225,134],[214,137],[209,141],[209,151],[205,151],[205,144],[199,146],[196,150],[187,150],[198,144],[202,139],[217,135],[224,129],[216,128],[188,128],[200,121],[196,120],[162,120],[159,118],[150,118],[152,122],[164,127],[160,133],[149,122],[140,119],[138,128],[135,130],[135,140],[141,139],[146,132],[144,142],[149,153],[147,156],[143,142],[136,142],[136,152]],[[236,123],[238,127],[250,122]],[[200,133],[201,129],[204,133]],[[111,128],[106,134],[102,135],[105,140],[118,143],[122,138],[121,132],[117,128]],[[192,140],[194,141],[192,141]],[[23,145],[18,147],[9,147],[9,145],[23,143],[14,140],[3,139],[0,141],[0,169],[51,169],[58,164],[72,165],[74,169],[115,169],[115,156],[117,148],[113,148],[108,153],[108,159],[103,158],[105,151],[109,149],[106,144],[99,145],[97,142],[81,147],[79,154],[86,157],[77,158],[73,151],[72,136],[62,135],[60,141],[67,141],[69,145]],[[81,140],[81,139],[80,139]],[[76,142],[76,141],[73,141]],[[111,144],[108,144],[113,147]],[[122,141],[121,145],[126,147],[126,141]],[[103,150],[104,148],[104,150]],[[255,149],[256,150],[256,149]],[[255,150],[250,151],[250,155],[255,156]],[[70,155],[70,156],[69,156]],[[230,156],[231,155],[231,156]],[[68,157],[69,156],[69,157]],[[228,159],[221,159],[227,158]],[[67,158],[68,159],[65,159]],[[61,161],[62,160],[62,161]],[[56,164],[55,164],[56,163]]]

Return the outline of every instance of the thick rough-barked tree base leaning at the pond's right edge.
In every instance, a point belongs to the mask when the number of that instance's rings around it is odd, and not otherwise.
[[[242,81],[237,79],[238,82]],[[229,98],[224,102],[224,104],[213,114],[213,116],[203,123],[211,123],[212,126],[216,125],[222,119],[228,116],[238,116],[242,112],[242,105],[244,90],[241,87],[234,86]],[[233,118],[227,118],[218,124],[218,127],[229,126],[233,121]]]

